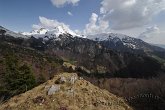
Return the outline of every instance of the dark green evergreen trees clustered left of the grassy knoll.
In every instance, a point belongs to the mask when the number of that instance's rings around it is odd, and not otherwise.
[[[6,88],[11,96],[23,93],[36,85],[35,77],[27,64],[20,66],[15,55],[6,57]]]

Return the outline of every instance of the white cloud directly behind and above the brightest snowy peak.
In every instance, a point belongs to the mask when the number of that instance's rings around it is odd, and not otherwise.
[[[66,25],[66,24],[59,22],[57,20],[51,20],[51,19],[39,16],[39,21],[40,21],[39,24],[37,24],[37,25],[33,24],[32,25],[33,29],[40,29],[40,28],[52,29],[52,28],[57,27],[57,26],[63,26],[64,28],[69,29],[69,25]]]

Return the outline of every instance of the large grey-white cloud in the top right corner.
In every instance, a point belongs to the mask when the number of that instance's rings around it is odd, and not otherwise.
[[[152,21],[163,8],[165,0],[103,0],[100,13],[114,30],[140,27]]]

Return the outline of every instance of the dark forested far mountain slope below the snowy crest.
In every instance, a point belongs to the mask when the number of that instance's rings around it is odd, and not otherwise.
[[[71,34],[60,34],[52,38],[45,35],[48,38],[46,40],[43,35],[39,38],[29,36],[19,41],[18,38],[3,36],[2,40],[70,59],[76,66],[85,67],[89,75],[96,73],[101,77],[152,77],[164,71],[163,62],[154,59],[157,59],[155,56],[164,58],[164,49],[125,35],[107,35],[109,34],[105,34],[107,40],[99,41]],[[126,42],[136,48],[124,46]]]

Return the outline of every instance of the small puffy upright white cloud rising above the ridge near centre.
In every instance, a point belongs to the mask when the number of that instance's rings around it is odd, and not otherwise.
[[[86,24],[86,28],[84,29],[84,34],[97,34],[107,32],[109,27],[109,23],[107,21],[103,21],[98,18],[96,13],[92,13],[89,23]]]

